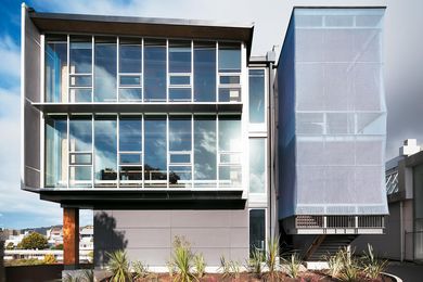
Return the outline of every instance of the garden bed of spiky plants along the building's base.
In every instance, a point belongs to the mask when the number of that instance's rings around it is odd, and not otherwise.
[[[322,258],[328,269],[307,270],[296,253],[279,255],[279,240],[269,240],[267,252],[258,249],[245,261],[220,258],[218,273],[206,272],[206,261],[202,254],[193,254],[191,245],[183,238],[176,238],[174,252],[167,262],[168,272],[156,273],[141,261],[130,262],[124,251],[108,254],[107,273],[102,282],[127,281],[395,281],[383,275],[387,261],[377,259],[372,247],[361,256],[341,248],[334,255]],[[65,277],[64,281],[92,281],[92,272],[81,272],[79,277]]]

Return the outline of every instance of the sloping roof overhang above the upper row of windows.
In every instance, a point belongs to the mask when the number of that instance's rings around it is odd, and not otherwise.
[[[230,40],[246,44],[249,57],[254,24],[158,17],[39,13],[29,17],[41,33],[120,35],[197,40]]]

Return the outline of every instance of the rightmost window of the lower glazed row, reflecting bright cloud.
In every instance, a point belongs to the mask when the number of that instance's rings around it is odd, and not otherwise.
[[[241,117],[219,116],[219,187],[241,187]]]

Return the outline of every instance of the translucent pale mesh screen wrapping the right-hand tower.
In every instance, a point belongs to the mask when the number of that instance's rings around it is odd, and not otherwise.
[[[285,39],[278,69],[286,72],[294,56],[294,75],[278,81],[279,89],[290,79],[295,84],[279,93],[295,102],[295,113],[285,117],[295,124],[295,154],[280,148],[282,157],[292,157],[283,162],[283,176],[295,178],[283,178],[281,197],[294,195],[294,208],[282,206],[282,217],[387,214],[383,16],[384,9],[294,10],[294,51],[287,52],[292,42]]]

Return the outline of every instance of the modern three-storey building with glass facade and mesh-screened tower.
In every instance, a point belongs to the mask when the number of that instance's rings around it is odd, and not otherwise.
[[[22,188],[63,207],[64,264],[81,208],[98,267],[163,267],[175,236],[213,267],[279,234],[383,233],[383,14],[296,8],[277,62],[253,24],[23,5]]]

